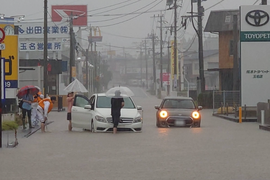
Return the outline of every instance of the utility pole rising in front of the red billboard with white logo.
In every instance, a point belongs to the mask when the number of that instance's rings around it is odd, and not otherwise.
[[[71,12],[70,18],[69,18],[69,33],[70,33],[70,55],[69,55],[69,82],[72,82],[72,70],[75,68],[75,48],[74,48],[74,31],[73,31],[73,13]]]

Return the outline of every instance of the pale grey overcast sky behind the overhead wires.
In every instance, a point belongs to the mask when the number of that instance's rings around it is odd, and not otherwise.
[[[212,10],[238,9],[240,5],[258,5],[261,0],[207,0],[202,2],[205,9],[203,25],[206,24],[209,13]],[[270,2],[268,2],[270,3]],[[166,0],[48,0],[48,12],[51,14],[51,5],[87,5],[88,24],[100,26],[103,35],[103,42],[99,43],[102,49],[108,49],[109,44],[112,50],[120,53],[123,51],[136,51],[132,48],[146,38],[152,31],[159,36],[159,25],[157,16],[164,15],[164,21],[170,26],[173,23],[172,11],[167,10]],[[179,22],[181,16],[189,15],[191,11],[190,0],[178,0]],[[194,4],[194,11],[197,11]],[[43,0],[6,0],[1,1],[0,13],[5,16],[25,15],[25,21],[38,20],[42,22],[44,12]],[[133,13],[131,13],[133,12]],[[130,15],[126,15],[131,13]],[[116,16],[117,14],[117,16]],[[105,16],[106,15],[106,16]],[[107,16],[109,15],[109,16]],[[155,18],[154,18],[155,17]],[[164,32],[166,29],[164,29]],[[179,36],[191,38],[195,31],[189,23],[187,30],[179,31]],[[163,38],[168,36],[163,35]],[[166,39],[167,40],[167,39]],[[85,42],[87,43],[87,42]]]

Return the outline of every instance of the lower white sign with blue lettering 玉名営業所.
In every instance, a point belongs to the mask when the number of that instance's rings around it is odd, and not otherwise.
[[[62,42],[61,41],[48,42],[47,49],[48,51],[62,51]],[[19,42],[19,50],[20,51],[43,51],[44,42],[36,42],[36,41]]]

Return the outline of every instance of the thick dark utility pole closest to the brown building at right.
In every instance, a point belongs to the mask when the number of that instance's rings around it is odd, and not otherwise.
[[[197,0],[198,5],[198,40],[199,40],[199,67],[200,67],[200,80],[201,80],[201,93],[205,91],[204,79],[204,62],[203,62],[203,35],[202,35],[202,16],[203,7],[202,0]]]

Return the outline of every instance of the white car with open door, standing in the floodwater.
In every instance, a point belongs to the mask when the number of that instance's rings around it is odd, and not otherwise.
[[[140,132],[142,130],[142,107],[136,106],[131,97],[124,97],[121,122],[117,129]],[[105,93],[93,94],[90,99],[76,95],[71,109],[72,127],[92,132],[112,131],[111,98]]]

